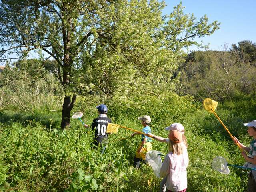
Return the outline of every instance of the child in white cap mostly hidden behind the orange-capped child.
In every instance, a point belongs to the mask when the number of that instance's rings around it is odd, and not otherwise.
[[[173,123],[171,124],[170,126],[164,128],[165,130],[168,130],[168,131],[179,131],[182,133],[182,140],[183,140],[183,143],[185,144],[186,147],[188,147],[187,145],[187,139],[186,139],[186,136],[184,134],[185,132],[185,129],[184,129],[184,126],[180,123]],[[170,140],[169,138],[163,138],[163,137],[160,137],[160,136],[156,136],[156,135],[153,135],[153,134],[148,134],[148,136],[151,136],[152,138],[154,138],[155,140],[158,140],[160,142],[164,142],[164,143],[170,143]],[[167,177],[164,177],[162,179],[162,182],[160,183],[160,190],[159,192],[166,192],[166,180],[167,180]]]

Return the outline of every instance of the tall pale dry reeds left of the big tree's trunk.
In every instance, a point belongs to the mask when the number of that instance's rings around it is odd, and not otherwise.
[[[20,112],[47,112],[51,109],[61,109],[62,89],[57,86],[53,77],[29,83],[24,80],[11,82],[0,89],[0,111],[14,110]]]

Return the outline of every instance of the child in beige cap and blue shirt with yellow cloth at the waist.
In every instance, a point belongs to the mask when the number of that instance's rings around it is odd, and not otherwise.
[[[148,125],[151,122],[151,118],[148,115],[144,115],[142,117],[138,117],[138,120],[141,120],[141,124],[144,126],[142,132],[145,134],[151,134],[150,126]],[[134,135],[140,135],[138,132],[132,133],[132,137]],[[134,166],[135,168],[140,167],[140,161],[145,160],[146,153],[152,150],[152,138],[141,135],[141,142],[136,150],[136,154],[134,156]]]

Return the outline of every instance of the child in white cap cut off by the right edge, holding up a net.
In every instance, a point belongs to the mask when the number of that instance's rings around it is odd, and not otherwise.
[[[242,151],[242,156],[248,162],[248,167],[256,168],[256,120],[244,123],[244,126],[248,127],[247,132],[249,136],[253,137],[254,140],[250,142],[250,146],[246,147],[240,141],[234,137],[234,143],[238,144],[244,151],[248,152],[247,154]],[[248,174],[248,182],[247,182],[247,192],[255,192],[256,191],[256,171],[250,170]]]

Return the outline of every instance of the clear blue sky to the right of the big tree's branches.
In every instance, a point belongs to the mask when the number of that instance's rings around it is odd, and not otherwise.
[[[170,14],[179,2],[165,0],[163,14]],[[223,50],[224,44],[230,48],[242,40],[256,42],[256,0],[182,0],[182,5],[184,13],[194,13],[197,19],[206,14],[209,22],[220,22],[220,29],[214,34],[198,39],[210,43],[210,50]]]

